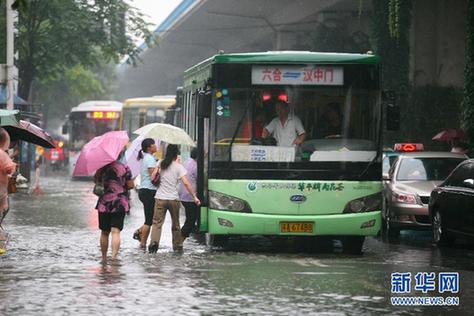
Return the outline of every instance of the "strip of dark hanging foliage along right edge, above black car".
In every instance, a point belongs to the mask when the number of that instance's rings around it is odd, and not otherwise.
[[[464,97],[462,127],[469,137],[469,152],[474,153],[474,1],[467,2],[466,66],[464,68]]]

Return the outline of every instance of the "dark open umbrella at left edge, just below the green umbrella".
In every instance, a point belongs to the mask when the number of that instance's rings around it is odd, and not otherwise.
[[[2,126],[12,141],[23,140],[28,143],[43,146],[45,148],[54,148],[54,140],[44,129],[33,123],[20,120],[18,125]]]

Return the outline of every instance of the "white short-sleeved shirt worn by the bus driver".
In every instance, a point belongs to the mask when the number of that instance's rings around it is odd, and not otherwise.
[[[304,134],[301,120],[295,115],[289,115],[285,124],[281,124],[279,117],[275,117],[265,129],[275,137],[278,146],[292,147],[296,137]]]

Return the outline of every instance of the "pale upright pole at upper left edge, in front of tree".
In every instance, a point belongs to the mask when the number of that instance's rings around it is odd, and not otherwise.
[[[7,60],[6,60],[6,79],[7,79],[7,109],[8,110],[13,110],[13,103],[14,103],[14,97],[15,97],[15,86],[14,86],[14,16],[13,16],[13,10],[12,10],[12,4],[13,0],[7,0],[6,3],[6,20],[7,20],[7,25],[6,25],[6,31],[7,31]]]

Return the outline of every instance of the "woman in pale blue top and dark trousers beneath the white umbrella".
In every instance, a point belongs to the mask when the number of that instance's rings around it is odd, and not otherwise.
[[[157,166],[155,157],[157,147],[152,138],[146,138],[142,141],[142,150],[138,153],[138,160],[142,160],[140,171],[140,189],[138,190],[138,198],[143,203],[145,212],[145,223],[135,231],[133,238],[140,241],[140,247],[146,248],[150,228],[153,224],[153,212],[155,210],[155,194],[156,186],[151,183],[151,175]]]

